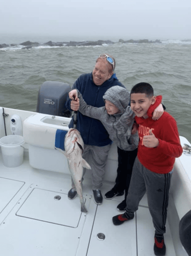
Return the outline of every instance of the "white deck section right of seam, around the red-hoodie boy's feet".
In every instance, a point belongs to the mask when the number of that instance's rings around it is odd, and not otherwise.
[[[98,206],[97,215],[94,222],[91,241],[88,249],[88,256],[99,255],[131,255],[131,256],[148,256],[154,255],[154,227],[152,218],[147,205],[147,197],[145,196],[140,202],[133,220],[127,221],[120,226],[114,226],[112,217],[120,214],[116,210],[119,201],[105,200],[104,204]],[[107,210],[106,210],[107,209]],[[96,239],[98,232],[106,234],[104,241]],[[175,256],[174,245],[168,223],[166,224],[166,255]],[[108,248],[104,254],[105,246]]]

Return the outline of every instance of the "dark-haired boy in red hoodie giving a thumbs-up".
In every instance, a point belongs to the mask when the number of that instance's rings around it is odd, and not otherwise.
[[[149,210],[155,228],[155,255],[165,255],[163,234],[169,188],[175,158],[182,155],[179,133],[175,119],[164,112],[153,120],[152,105],[155,103],[153,88],[149,83],[137,83],[131,90],[131,109],[138,125],[138,153],[134,162],[127,196],[126,212],[113,217],[114,225],[121,225],[134,218],[141,198],[147,191]],[[160,100],[162,97],[160,97]]]

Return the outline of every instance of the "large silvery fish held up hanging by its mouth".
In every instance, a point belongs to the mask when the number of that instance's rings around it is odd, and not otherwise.
[[[61,153],[67,157],[71,178],[74,181],[77,194],[80,198],[81,211],[87,212],[82,196],[82,176],[83,167],[91,169],[90,165],[82,158],[84,150],[84,142],[78,130],[70,128],[65,135],[64,141],[65,152],[57,148]]]

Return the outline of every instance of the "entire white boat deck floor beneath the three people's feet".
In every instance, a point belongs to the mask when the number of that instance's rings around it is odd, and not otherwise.
[[[116,206],[124,197],[104,198],[102,205],[96,205],[88,177],[83,182],[88,209],[84,214],[78,197],[67,198],[70,175],[31,167],[28,152],[22,165],[14,168],[4,166],[0,154],[0,170],[2,255],[154,255],[154,227],[146,195],[133,220],[114,226],[112,217],[119,214]],[[112,186],[105,181],[102,194]],[[171,195],[169,208],[166,255],[187,255],[178,238],[179,219]],[[98,233],[103,233],[105,239],[99,240]]]

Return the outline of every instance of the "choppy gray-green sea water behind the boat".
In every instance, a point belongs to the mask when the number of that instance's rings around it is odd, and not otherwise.
[[[116,76],[129,91],[138,82],[151,83],[155,95],[163,96],[166,111],[176,119],[180,135],[191,142],[191,41],[1,48],[0,105],[36,111],[38,91],[44,81],[72,86],[81,74],[92,71],[101,53],[115,57]]]

